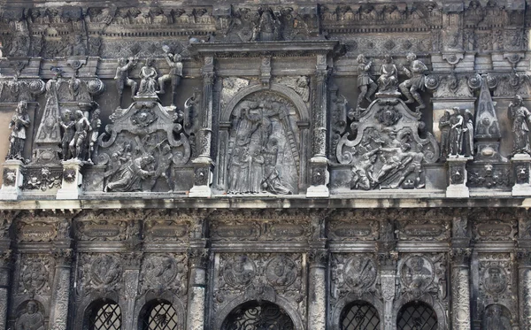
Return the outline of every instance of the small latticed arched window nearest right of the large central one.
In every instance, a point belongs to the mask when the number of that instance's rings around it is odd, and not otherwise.
[[[341,313],[342,330],[380,329],[378,311],[370,303],[354,302],[347,305]]]

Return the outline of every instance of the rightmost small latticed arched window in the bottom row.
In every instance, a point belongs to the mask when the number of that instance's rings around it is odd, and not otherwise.
[[[407,303],[398,311],[397,330],[436,330],[437,327],[437,315],[427,303]]]

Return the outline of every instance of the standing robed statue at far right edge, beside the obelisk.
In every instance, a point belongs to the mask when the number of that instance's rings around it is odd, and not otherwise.
[[[522,96],[514,96],[509,104],[509,116],[512,119],[512,135],[514,136],[512,152],[514,154],[531,153],[529,127],[527,127],[527,122],[531,122],[531,111],[524,106]]]

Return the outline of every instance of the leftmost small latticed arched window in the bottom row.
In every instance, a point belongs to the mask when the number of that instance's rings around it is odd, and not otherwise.
[[[121,329],[121,310],[118,303],[97,301],[88,310],[86,327],[89,330]]]

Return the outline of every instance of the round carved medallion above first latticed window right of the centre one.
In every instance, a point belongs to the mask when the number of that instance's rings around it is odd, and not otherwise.
[[[344,268],[344,279],[350,288],[361,291],[373,285],[376,273],[376,266],[371,258],[351,257]]]

